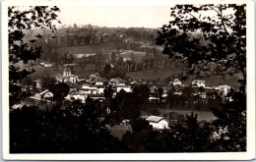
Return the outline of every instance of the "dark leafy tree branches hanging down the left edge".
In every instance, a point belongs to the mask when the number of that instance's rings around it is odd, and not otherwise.
[[[9,32],[9,106],[10,108],[28,96],[19,85],[21,81],[31,75],[34,70],[20,68],[17,63],[28,64],[29,60],[36,60],[40,57],[40,47],[32,47],[33,43],[40,39],[40,34],[34,35],[35,39],[25,42],[25,29],[50,28],[55,29],[52,22],[57,20],[57,7],[36,6],[29,9],[19,7],[8,8],[8,32]],[[59,22],[59,21],[58,21]],[[60,22],[59,22],[60,23]]]

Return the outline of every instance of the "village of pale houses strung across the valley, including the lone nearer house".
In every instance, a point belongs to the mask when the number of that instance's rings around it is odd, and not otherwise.
[[[150,81],[126,81],[120,78],[113,78],[113,79],[105,79],[100,77],[99,73],[91,74],[88,79],[79,78],[78,76],[72,74],[71,69],[66,68],[63,71],[63,74],[56,74],[55,80],[57,82],[65,82],[69,85],[69,92],[64,98],[65,101],[73,102],[75,100],[80,100],[82,103],[86,103],[88,98],[93,100],[97,100],[99,102],[104,102],[104,90],[107,87],[110,87],[113,91],[112,98],[114,98],[120,91],[125,91],[127,93],[131,93],[133,91],[133,87],[136,84],[147,84],[150,88],[150,96],[149,102],[151,104],[155,103],[165,103],[167,101],[168,95],[170,95],[170,89],[174,88],[172,91],[172,95],[182,96],[182,89],[185,87],[191,87],[193,89],[193,93],[191,93],[191,97],[198,97],[202,100],[207,101],[209,98],[215,98],[216,94],[219,94],[223,97],[223,100],[231,100],[228,97],[228,92],[230,91],[231,87],[228,85],[219,85],[219,86],[208,86],[206,81],[194,80],[191,83],[182,82],[179,79],[174,79],[170,81],[169,84],[163,84],[162,82],[150,82]],[[40,79],[33,81],[35,88],[38,90],[37,93],[32,94],[30,97],[32,100],[35,101],[42,101],[47,102],[49,105],[54,104],[53,99],[53,92],[49,89],[42,88],[42,81]],[[24,90],[31,89],[30,87],[26,86],[23,88]],[[162,89],[162,91],[160,90]],[[161,91],[161,92],[160,92]],[[160,95],[159,95],[160,92]],[[211,93],[212,92],[212,93]],[[214,93],[217,92],[217,93]],[[107,109],[109,113],[109,109]],[[144,115],[142,118],[146,119],[149,124],[156,130],[164,130],[169,129],[169,125],[173,122],[175,123],[176,120],[167,120],[162,115]],[[121,122],[121,126],[127,128],[129,130],[130,119],[123,119]],[[115,127],[116,128],[116,127]],[[118,128],[118,126],[117,126]],[[113,128],[112,128],[113,129]],[[125,133],[125,132],[124,132]],[[123,133],[123,134],[124,134]],[[120,133],[118,133],[120,134]],[[117,136],[118,136],[117,134]],[[119,137],[121,137],[119,135]]]

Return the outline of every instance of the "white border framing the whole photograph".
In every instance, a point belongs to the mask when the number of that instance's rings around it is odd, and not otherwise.
[[[8,16],[12,5],[169,5],[169,4],[245,3],[247,27],[247,151],[230,153],[84,153],[84,154],[10,154],[9,153],[9,92],[8,92]],[[250,160],[255,158],[255,31],[253,0],[3,0],[2,2],[2,139],[6,160]],[[166,22],[167,23],[167,22]]]

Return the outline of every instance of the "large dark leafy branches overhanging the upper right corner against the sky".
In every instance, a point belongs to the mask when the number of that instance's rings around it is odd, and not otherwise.
[[[234,68],[246,84],[244,4],[175,5],[170,10],[171,20],[157,38],[163,54],[185,62],[190,75],[199,75],[211,62],[221,65],[223,72]]]

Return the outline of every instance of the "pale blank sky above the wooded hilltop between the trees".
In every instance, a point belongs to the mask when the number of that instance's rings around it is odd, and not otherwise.
[[[170,20],[170,6],[58,6],[61,26],[156,28]]]

